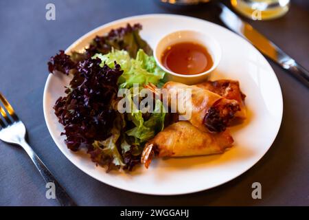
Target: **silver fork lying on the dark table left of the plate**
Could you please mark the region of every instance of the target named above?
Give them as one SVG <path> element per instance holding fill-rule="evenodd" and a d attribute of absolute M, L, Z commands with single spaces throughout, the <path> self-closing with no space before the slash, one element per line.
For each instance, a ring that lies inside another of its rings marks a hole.
<path fill-rule="evenodd" d="M 36 165 L 38 171 L 41 173 L 41 176 L 46 183 L 54 182 L 56 188 L 56 199 L 59 201 L 61 206 L 76 206 L 76 203 L 69 197 L 67 192 L 60 186 L 55 177 L 48 170 L 48 168 L 43 164 L 41 159 L 34 153 L 31 146 L 27 144 L 25 140 L 26 129 L 25 125 L 17 117 L 14 109 L 0 93 L 0 104 L 3 104 L 4 109 L 0 105 L 0 113 L 4 120 L 1 120 L 0 115 L 0 140 L 3 142 L 8 142 L 10 144 L 17 144 L 21 146 Z M 6 110 L 6 111 L 5 111 Z M 7 114 L 8 112 L 8 114 Z"/>

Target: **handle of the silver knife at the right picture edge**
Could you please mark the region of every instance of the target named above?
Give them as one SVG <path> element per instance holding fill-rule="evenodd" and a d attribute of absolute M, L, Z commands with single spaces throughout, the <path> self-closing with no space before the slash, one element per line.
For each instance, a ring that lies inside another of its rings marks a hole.
<path fill-rule="evenodd" d="M 309 72 L 307 69 L 296 63 L 293 59 L 281 63 L 281 66 L 309 88 Z"/>

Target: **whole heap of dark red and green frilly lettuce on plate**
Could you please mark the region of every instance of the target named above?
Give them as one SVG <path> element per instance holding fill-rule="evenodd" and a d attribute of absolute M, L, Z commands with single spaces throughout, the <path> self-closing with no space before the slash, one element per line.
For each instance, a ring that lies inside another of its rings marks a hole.
<path fill-rule="evenodd" d="M 93 162 L 107 166 L 106 171 L 132 170 L 140 164 L 144 144 L 164 126 L 166 112 L 160 100 L 154 101 L 152 113 L 144 113 L 128 94 L 131 111 L 117 110 L 119 89 L 132 90 L 135 83 L 140 88 L 148 83 L 159 87 L 164 82 L 165 72 L 139 36 L 140 30 L 138 23 L 111 30 L 96 36 L 83 53 L 60 50 L 47 63 L 51 73 L 73 75 L 66 96 L 54 105 L 67 147 L 72 151 L 86 148 Z"/>

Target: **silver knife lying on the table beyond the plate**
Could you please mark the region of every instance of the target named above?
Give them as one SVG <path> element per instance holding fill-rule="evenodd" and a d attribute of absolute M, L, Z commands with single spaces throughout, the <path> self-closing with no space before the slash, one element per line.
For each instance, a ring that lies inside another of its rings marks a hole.
<path fill-rule="evenodd" d="M 304 67 L 301 67 L 296 61 L 283 52 L 277 45 L 266 39 L 265 36 L 255 30 L 249 23 L 242 21 L 237 14 L 232 12 L 226 5 L 218 3 L 222 12 L 220 19 L 227 28 L 236 32 L 240 36 L 252 43 L 262 54 L 271 58 L 282 68 L 293 74 L 304 85 L 309 87 L 309 72 Z"/>

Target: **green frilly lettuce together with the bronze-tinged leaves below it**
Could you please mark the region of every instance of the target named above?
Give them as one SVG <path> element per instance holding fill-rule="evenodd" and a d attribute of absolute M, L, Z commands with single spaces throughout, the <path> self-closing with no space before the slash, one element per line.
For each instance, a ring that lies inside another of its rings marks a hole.
<path fill-rule="evenodd" d="M 144 144 L 163 130 L 166 114 L 161 100 L 156 100 L 154 111 L 145 117 L 144 113 L 137 108 L 138 103 L 135 103 L 131 95 L 134 94 L 132 93 L 133 84 L 138 83 L 139 89 L 148 83 L 159 85 L 164 81 L 165 72 L 157 66 L 155 58 L 148 56 L 143 50 L 138 50 L 135 59 L 130 58 L 125 50 L 111 50 L 108 54 L 95 54 L 92 58 L 100 58 L 101 67 L 107 65 L 115 68 L 115 63 L 120 65 L 123 74 L 117 81 L 119 89 L 126 88 L 131 91 L 125 97 L 131 110 L 130 113 L 123 115 L 126 121 L 122 118 L 122 124 L 125 125 L 117 127 L 120 121 L 115 122 L 111 137 L 93 143 L 95 153 L 92 159 L 99 164 L 106 164 L 106 160 L 111 160 L 110 164 L 131 170 L 135 164 L 139 163 Z M 126 126 L 126 122 L 130 125 Z"/>

